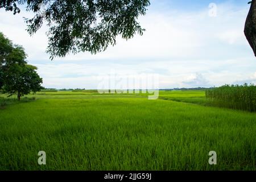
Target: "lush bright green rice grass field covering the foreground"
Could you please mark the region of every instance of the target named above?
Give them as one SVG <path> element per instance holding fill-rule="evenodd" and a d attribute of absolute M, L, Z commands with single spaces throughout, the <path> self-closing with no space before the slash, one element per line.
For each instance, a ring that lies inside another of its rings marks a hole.
<path fill-rule="evenodd" d="M 76 93 L 39 93 L 28 96 L 35 101 L 0 110 L 0 169 L 256 169 L 255 113 Z M 160 98 L 203 97 L 201 91 L 160 92 Z M 41 150 L 45 166 L 37 163 Z M 212 150 L 215 166 L 208 164 Z"/>

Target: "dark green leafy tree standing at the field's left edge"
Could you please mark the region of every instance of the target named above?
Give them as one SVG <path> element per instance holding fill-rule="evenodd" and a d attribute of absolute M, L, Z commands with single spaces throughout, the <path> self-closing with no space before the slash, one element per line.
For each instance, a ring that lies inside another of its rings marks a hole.
<path fill-rule="evenodd" d="M 36 67 L 28 65 L 22 46 L 14 45 L 0 32 L 0 90 L 17 93 L 18 100 L 24 94 L 42 89 L 43 80 L 36 73 Z"/>

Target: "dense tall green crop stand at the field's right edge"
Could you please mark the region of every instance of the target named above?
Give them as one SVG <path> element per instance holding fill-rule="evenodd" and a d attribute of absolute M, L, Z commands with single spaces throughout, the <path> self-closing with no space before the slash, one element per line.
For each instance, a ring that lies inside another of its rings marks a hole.
<path fill-rule="evenodd" d="M 255 85 L 225 85 L 206 90 L 205 96 L 212 105 L 256 111 Z"/>

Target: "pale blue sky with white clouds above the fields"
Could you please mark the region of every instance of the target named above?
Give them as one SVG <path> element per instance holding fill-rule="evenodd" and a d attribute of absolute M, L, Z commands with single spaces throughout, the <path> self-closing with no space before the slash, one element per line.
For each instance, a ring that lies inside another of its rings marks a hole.
<path fill-rule="evenodd" d="M 249 0 L 248 0 L 249 1 Z M 47 27 L 35 35 L 26 31 L 22 11 L 0 9 L 0 31 L 22 45 L 29 64 L 38 67 L 46 88 L 96 89 L 99 77 L 156 74 L 159 88 L 256 84 L 256 59 L 243 34 L 248 1 L 151 0 L 139 18 L 143 36 L 117 38 L 105 52 L 49 59 Z"/>

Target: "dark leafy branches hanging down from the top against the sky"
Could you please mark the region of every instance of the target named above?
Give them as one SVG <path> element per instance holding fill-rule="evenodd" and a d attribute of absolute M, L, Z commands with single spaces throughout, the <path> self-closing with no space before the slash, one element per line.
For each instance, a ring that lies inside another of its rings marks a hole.
<path fill-rule="evenodd" d="M 138 17 L 146 14 L 149 0 L 3 0 L 0 8 L 20 13 L 20 5 L 35 13 L 26 19 L 30 35 L 48 26 L 47 53 L 51 59 L 69 52 L 97 53 L 115 45 L 118 35 L 123 39 L 142 35 Z M 42 8 L 43 7 L 43 8 Z"/>

